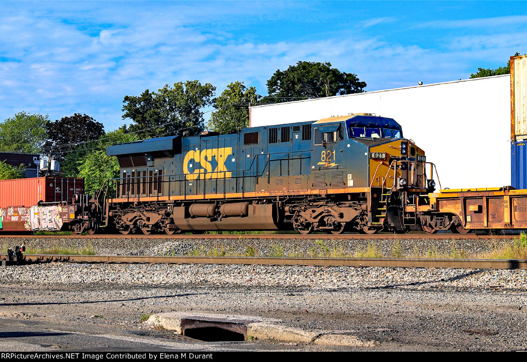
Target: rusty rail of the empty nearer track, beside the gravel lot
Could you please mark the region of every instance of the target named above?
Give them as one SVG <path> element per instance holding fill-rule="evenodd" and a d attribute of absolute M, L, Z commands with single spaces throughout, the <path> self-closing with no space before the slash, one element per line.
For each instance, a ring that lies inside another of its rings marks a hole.
<path fill-rule="evenodd" d="M 0 254 L 0 259 L 5 259 Z M 170 263 L 301 265 L 385 268 L 527 269 L 527 260 L 513 259 L 395 259 L 395 258 L 275 258 L 275 257 L 173 257 L 125 255 L 24 255 L 29 262 Z"/>

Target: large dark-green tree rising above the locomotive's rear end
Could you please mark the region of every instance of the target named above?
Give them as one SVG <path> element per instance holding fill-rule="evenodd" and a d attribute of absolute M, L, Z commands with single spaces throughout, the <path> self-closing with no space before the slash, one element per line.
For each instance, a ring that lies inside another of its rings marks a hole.
<path fill-rule="evenodd" d="M 134 124 L 131 132 L 139 138 L 182 134 L 199 134 L 203 130 L 202 109 L 212 104 L 216 87 L 199 81 L 165 84 L 158 92 L 148 89 L 140 96 L 125 96 L 123 119 L 129 118 Z"/>

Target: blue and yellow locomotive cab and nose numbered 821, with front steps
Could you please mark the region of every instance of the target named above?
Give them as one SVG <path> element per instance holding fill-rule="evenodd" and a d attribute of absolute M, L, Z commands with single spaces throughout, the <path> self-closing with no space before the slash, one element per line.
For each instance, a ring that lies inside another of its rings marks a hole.
<path fill-rule="evenodd" d="M 430 192 L 435 182 L 427 178 L 424 151 L 403 138 L 401 125 L 372 114 L 351 114 L 319 120 L 313 128 L 312 185 L 327 192 L 345 190 L 350 201 L 362 205 L 348 224 L 367 233 L 419 228 L 418 195 Z"/>

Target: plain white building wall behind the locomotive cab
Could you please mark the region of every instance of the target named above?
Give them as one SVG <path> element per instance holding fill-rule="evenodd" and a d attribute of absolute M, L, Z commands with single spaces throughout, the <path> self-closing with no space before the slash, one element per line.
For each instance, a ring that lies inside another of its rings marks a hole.
<path fill-rule="evenodd" d="M 251 107 L 251 126 L 350 113 L 395 119 L 437 166 L 442 188 L 511 183 L 510 76 Z"/>

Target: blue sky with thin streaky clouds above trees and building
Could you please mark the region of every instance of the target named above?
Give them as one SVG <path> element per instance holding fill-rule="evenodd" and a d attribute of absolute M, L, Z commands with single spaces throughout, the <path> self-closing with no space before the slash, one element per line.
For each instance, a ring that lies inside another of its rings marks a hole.
<path fill-rule="evenodd" d="M 467 79 L 527 53 L 527 2 L 0 2 L 0 121 L 86 113 L 107 131 L 125 95 L 199 80 L 219 95 L 296 62 L 366 91 Z"/>

